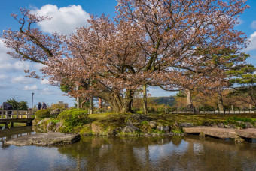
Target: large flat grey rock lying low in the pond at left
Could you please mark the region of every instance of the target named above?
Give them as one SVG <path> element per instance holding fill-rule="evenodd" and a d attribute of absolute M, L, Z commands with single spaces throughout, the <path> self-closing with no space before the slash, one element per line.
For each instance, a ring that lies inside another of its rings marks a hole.
<path fill-rule="evenodd" d="M 37 133 L 27 136 L 20 136 L 16 139 L 11 139 L 6 142 L 8 145 L 38 145 L 38 146 L 46 146 L 46 145 L 67 145 L 72 144 L 74 142 L 78 142 L 81 139 L 78 134 L 64 134 L 64 133 Z"/>

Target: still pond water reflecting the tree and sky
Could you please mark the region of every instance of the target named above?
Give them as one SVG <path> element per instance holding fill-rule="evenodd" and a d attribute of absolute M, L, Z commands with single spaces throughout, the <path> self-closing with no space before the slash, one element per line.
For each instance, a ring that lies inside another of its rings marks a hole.
<path fill-rule="evenodd" d="M 0 130 L 0 170 L 256 170 L 256 143 L 199 136 L 82 137 L 72 145 L 5 145 L 32 127 Z"/>

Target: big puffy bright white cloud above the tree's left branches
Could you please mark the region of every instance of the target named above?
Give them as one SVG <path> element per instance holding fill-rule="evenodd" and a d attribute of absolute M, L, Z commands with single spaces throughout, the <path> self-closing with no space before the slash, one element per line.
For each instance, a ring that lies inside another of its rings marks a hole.
<path fill-rule="evenodd" d="M 81 5 L 60 8 L 56 5 L 44 5 L 40 9 L 32 10 L 32 13 L 52 18 L 50 21 L 38 23 L 41 30 L 48 33 L 56 31 L 62 34 L 71 34 L 75 33 L 75 28 L 89 26 L 87 19 L 90 18 L 90 15 L 82 9 Z"/>

